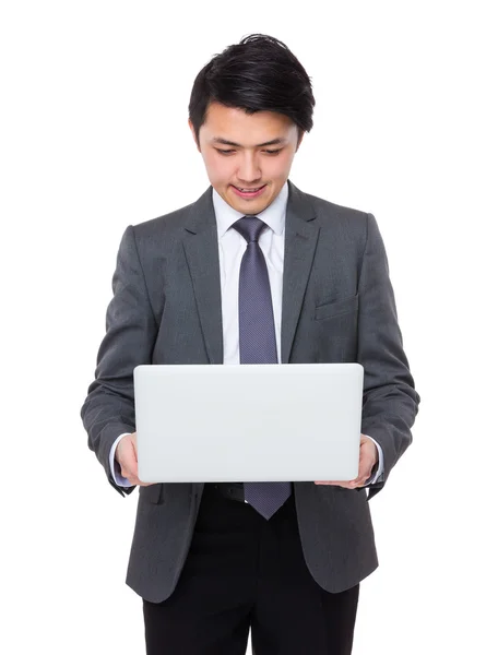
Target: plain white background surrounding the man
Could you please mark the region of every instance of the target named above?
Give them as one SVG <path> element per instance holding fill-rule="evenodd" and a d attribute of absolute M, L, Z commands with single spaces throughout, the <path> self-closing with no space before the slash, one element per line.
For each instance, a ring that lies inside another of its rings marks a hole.
<path fill-rule="evenodd" d="M 3 2 L 0 648 L 144 653 L 121 498 L 80 418 L 129 224 L 209 181 L 199 70 L 262 32 L 312 79 L 290 179 L 372 212 L 422 403 L 370 509 L 357 654 L 496 652 L 496 20 L 491 2 Z M 250 652 L 250 651 L 248 651 Z"/>

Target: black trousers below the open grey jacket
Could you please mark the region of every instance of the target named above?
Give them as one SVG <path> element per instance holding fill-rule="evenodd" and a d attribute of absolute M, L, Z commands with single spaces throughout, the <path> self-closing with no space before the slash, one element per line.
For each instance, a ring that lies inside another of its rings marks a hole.
<path fill-rule="evenodd" d="M 359 584 L 325 592 L 306 565 L 294 493 L 266 521 L 205 485 L 178 584 L 143 599 L 147 655 L 349 655 Z"/>

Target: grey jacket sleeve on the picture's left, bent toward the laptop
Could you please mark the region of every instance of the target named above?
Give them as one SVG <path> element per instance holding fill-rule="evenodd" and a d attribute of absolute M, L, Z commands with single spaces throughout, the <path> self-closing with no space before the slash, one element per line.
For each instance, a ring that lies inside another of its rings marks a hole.
<path fill-rule="evenodd" d="M 88 448 L 104 466 L 109 484 L 124 496 L 134 486 L 122 488 L 116 484 L 110 471 L 110 449 L 119 434 L 135 431 L 133 369 L 140 364 L 151 364 L 157 336 L 131 225 L 119 246 L 112 294 L 95 380 L 88 388 L 81 418 L 88 434 Z"/>

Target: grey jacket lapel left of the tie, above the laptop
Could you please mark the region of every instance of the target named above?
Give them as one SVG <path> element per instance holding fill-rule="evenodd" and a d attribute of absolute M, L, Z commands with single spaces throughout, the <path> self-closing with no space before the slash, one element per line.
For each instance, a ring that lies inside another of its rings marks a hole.
<path fill-rule="evenodd" d="M 210 364 L 223 364 L 222 291 L 212 187 L 193 203 L 185 226 L 185 255 Z"/>

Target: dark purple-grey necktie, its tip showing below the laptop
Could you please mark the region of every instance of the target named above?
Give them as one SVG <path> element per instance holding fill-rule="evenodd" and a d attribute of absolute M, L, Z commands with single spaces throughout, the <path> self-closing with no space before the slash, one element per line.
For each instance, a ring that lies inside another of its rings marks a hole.
<path fill-rule="evenodd" d="M 247 241 L 239 278 L 240 364 L 277 364 L 270 279 L 258 243 L 265 223 L 257 216 L 244 216 L 233 227 Z M 284 504 L 290 491 L 290 483 L 244 484 L 245 499 L 266 520 Z"/>

